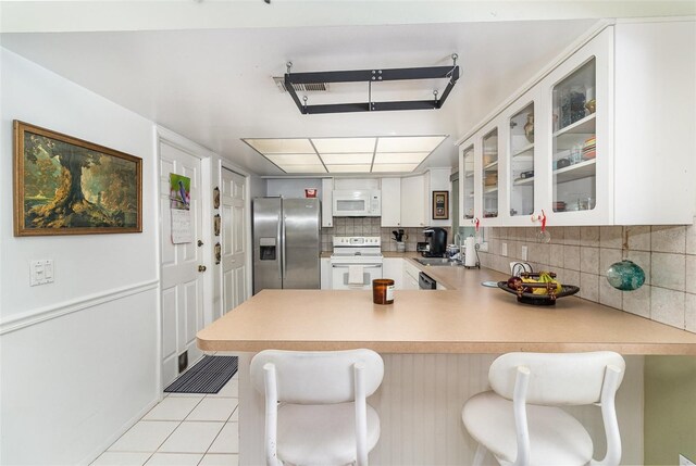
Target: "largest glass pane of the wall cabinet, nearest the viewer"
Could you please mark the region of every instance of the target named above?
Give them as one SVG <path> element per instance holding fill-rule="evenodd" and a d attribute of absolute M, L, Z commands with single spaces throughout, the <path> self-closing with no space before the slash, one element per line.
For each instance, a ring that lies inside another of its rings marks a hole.
<path fill-rule="evenodd" d="M 595 56 L 552 87 L 551 207 L 556 213 L 591 211 L 596 205 L 595 89 Z"/>

